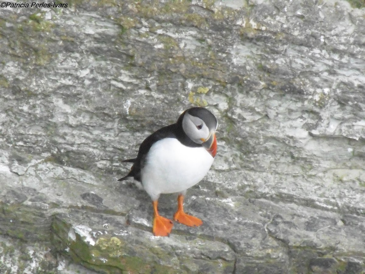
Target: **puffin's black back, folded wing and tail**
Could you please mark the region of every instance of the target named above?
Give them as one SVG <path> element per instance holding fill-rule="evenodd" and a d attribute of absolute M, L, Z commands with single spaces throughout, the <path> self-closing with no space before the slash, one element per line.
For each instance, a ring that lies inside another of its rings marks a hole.
<path fill-rule="evenodd" d="M 151 146 L 164 138 L 177 138 L 178 133 L 177 125 L 169 125 L 165 126 L 164 128 L 161 128 L 154 133 L 152 133 L 150 136 L 148 136 L 139 146 L 138 155 L 137 158 L 134 159 L 128 159 L 124 160 L 123 162 L 130 162 L 134 163 L 131 167 L 130 172 L 124 176 L 123 178 L 120 178 L 118 181 L 123 181 L 128 179 L 129 177 L 133 177 L 135 180 L 141 182 L 141 169 L 144 165 L 147 153 L 150 151 Z"/>

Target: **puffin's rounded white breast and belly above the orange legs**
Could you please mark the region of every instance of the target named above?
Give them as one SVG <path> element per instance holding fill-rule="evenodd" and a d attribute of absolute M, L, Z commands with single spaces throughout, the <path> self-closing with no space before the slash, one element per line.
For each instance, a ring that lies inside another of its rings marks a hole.
<path fill-rule="evenodd" d="M 203 179 L 213 160 L 205 148 L 191 148 L 175 138 L 162 139 L 147 154 L 142 185 L 153 201 L 161 193 L 183 192 Z"/>

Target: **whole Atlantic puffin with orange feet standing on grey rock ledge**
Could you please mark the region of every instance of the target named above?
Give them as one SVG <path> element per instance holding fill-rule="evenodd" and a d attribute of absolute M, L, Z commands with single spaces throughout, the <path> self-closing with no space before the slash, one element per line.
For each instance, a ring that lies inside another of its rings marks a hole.
<path fill-rule="evenodd" d="M 174 220 L 190 227 L 203 222 L 184 212 L 184 195 L 207 174 L 217 152 L 215 131 L 217 119 L 203 107 L 185 110 L 177 122 L 148 136 L 139 146 L 137 157 L 123 162 L 133 163 L 130 172 L 118 181 L 133 177 L 141 182 L 152 199 L 155 236 L 168 236 L 172 220 L 158 214 L 158 198 L 162 193 L 178 193 Z"/>

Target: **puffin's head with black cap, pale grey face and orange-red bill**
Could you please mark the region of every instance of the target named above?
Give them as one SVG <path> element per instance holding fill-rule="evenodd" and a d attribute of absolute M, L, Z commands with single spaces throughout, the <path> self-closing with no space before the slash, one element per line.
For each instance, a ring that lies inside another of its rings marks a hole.
<path fill-rule="evenodd" d="M 215 116 L 204 107 L 192 107 L 180 115 L 185 134 L 195 143 L 201 144 L 214 157 L 217 152 L 215 131 L 218 126 Z"/>

